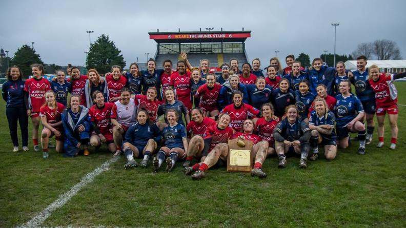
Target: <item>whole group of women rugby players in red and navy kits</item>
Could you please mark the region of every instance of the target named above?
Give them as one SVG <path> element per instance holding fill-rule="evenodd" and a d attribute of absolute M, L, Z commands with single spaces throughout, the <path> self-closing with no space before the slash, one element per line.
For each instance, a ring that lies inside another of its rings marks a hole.
<path fill-rule="evenodd" d="M 39 121 L 44 127 L 40 134 L 44 158 L 49 156 L 49 139 L 55 135 L 56 151 L 68 157 L 80 151 L 88 156 L 88 147 L 97 151 L 107 144 L 114 156 L 124 153 L 125 168 L 147 167 L 154 155 L 154 172 L 163 163 L 170 172 L 178 159 L 185 159 L 184 172 L 193 179 L 204 177 L 219 159 L 226 160 L 232 138 L 253 142 L 251 174 L 260 178 L 267 176 L 262 163 L 271 154 L 277 154 L 280 168 L 286 167 L 287 154 L 300 155 L 299 166 L 307 168 L 308 158 L 318 158 L 319 146 L 327 160 L 334 159 L 337 144 L 349 146 L 350 132 L 358 134 L 358 153 L 363 155 L 365 145 L 372 141 L 375 113 L 377 147 L 384 144 L 387 112 L 390 148 L 396 147 L 398 109 L 393 81 L 406 73 L 379 73 L 375 65 L 367 69 L 365 56 L 357 58 L 358 70 L 353 72 L 342 62 L 328 67 L 320 58 L 305 70 L 289 55 L 284 69 L 278 58 L 271 58 L 265 74 L 258 58 L 241 69 L 233 58 L 216 76 L 209 71 L 207 59 L 192 67 L 186 53 L 180 56 L 176 70 L 171 60 L 164 61 L 164 69 L 156 69 L 155 61 L 149 59 L 147 70 L 139 70 L 136 63 L 129 72 L 113 66 L 105 77 L 94 69 L 80 75 L 79 68 L 69 66 L 67 80 L 60 70 L 48 81 L 38 64 L 32 65 L 32 77 L 23 80 L 21 70 L 10 67 L 3 98 L 14 152 L 19 150 L 18 121 L 23 150 L 29 150 L 28 116 L 33 123 L 34 151 L 40 150 Z M 140 163 L 134 158 L 141 159 Z M 197 159 L 195 164 L 193 159 Z"/>

